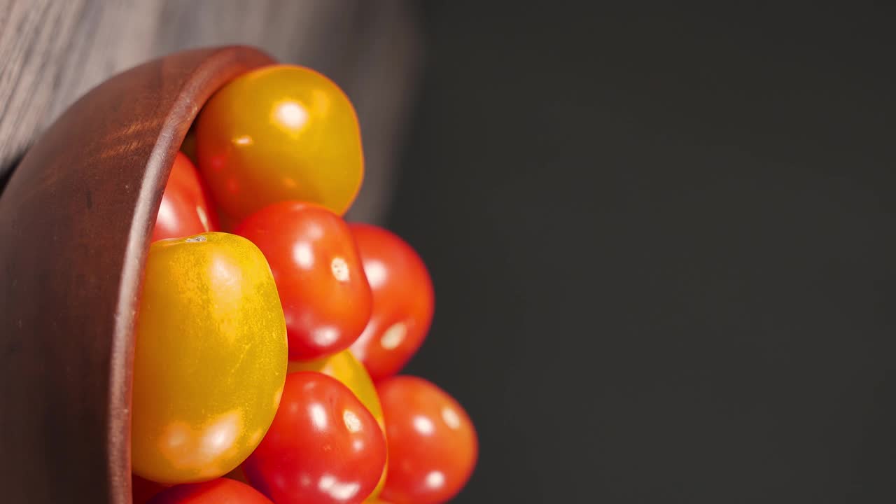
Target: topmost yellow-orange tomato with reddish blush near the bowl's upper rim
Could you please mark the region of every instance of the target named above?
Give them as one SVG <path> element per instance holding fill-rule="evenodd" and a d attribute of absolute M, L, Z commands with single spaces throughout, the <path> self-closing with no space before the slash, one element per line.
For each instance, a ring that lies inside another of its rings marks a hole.
<path fill-rule="evenodd" d="M 197 119 L 196 149 L 212 194 L 237 221 L 287 200 L 341 215 L 364 176 L 349 98 L 322 74 L 296 65 L 249 72 L 215 93 Z"/>

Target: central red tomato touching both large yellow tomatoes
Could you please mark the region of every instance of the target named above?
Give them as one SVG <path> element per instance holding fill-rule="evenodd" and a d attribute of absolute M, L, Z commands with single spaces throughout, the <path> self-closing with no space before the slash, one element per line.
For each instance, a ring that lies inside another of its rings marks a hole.
<path fill-rule="evenodd" d="M 349 347 L 370 318 L 371 293 L 349 226 L 317 204 L 282 202 L 253 213 L 234 231 L 271 265 L 289 359 L 308 360 Z"/>

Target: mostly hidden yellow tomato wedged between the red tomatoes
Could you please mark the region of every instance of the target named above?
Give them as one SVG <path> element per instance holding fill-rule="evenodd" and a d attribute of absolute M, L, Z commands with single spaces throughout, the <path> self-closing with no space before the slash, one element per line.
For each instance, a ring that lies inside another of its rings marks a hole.
<path fill-rule="evenodd" d="M 374 381 L 370 379 L 364 365 L 355 359 L 355 356 L 348 350 L 334 353 L 329 357 L 316 359 L 314 361 L 290 361 L 288 372 L 293 371 L 316 371 L 323 373 L 329 377 L 336 378 L 340 383 L 358 397 L 361 404 L 364 404 L 371 414 L 374 415 L 376 423 L 380 425 L 380 429 L 385 430 L 383 423 L 383 408 L 380 406 L 380 398 L 376 395 L 376 387 Z M 388 456 L 387 456 L 388 458 Z M 388 463 L 383 467 L 383 475 L 380 476 L 380 482 L 376 484 L 376 488 L 371 493 L 372 497 L 380 494 L 383 485 L 386 482 Z"/>

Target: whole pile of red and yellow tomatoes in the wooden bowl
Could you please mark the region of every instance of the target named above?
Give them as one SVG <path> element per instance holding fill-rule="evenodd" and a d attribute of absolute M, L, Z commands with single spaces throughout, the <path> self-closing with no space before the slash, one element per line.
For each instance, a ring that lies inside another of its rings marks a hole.
<path fill-rule="evenodd" d="M 426 266 L 345 222 L 358 119 L 322 74 L 273 65 L 205 105 L 162 196 L 136 317 L 136 504 L 431 504 L 476 464 L 470 417 L 399 376 Z"/>

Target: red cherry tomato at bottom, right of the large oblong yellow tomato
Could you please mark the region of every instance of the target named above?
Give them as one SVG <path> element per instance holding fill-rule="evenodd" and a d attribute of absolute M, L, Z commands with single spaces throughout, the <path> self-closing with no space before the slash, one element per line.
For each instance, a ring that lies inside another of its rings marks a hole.
<path fill-rule="evenodd" d="M 277 504 L 358 503 L 386 462 L 383 430 L 348 387 L 321 373 L 289 373 L 271 429 L 243 469 Z"/>

